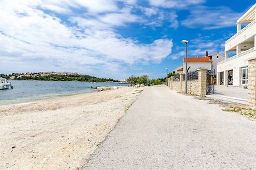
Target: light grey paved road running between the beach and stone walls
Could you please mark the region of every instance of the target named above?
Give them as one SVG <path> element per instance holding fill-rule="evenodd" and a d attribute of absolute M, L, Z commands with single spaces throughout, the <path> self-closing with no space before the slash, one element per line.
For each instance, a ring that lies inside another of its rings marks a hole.
<path fill-rule="evenodd" d="M 84 169 L 256 169 L 256 122 L 149 87 Z"/>

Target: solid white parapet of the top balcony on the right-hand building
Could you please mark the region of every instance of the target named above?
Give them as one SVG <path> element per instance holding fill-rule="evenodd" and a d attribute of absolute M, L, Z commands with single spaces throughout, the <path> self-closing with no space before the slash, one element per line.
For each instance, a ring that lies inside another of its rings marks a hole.
<path fill-rule="evenodd" d="M 256 22 L 253 20 L 250 24 L 246 25 L 241 31 L 228 39 L 225 44 L 225 51 L 230 51 L 235 46 L 243 43 L 246 39 L 251 38 L 255 35 Z"/>

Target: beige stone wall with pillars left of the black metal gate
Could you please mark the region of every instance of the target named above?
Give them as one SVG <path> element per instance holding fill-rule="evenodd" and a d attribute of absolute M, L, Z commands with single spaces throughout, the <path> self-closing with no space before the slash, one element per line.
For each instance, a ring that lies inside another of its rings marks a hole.
<path fill-rule="evenodd" d="M 198 96 L 206 95 L 206 82 L 207 74 L 205 69 L 198 69 L 198 80 L 188 80 L 188 94 L 195 94 Z M 184 93 L 185 81 L 183 80 L 183 74 L 180 74 L 180 81 L 173 81 L 172 76 L 170 80 L 170 89 L 180 93 Z"/>

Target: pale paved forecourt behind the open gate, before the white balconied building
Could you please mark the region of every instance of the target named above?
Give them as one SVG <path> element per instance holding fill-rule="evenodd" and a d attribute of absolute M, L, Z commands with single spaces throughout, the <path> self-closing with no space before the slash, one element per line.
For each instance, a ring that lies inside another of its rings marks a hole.
<path fill-rule="evenodd" d="M 247 100 L 248 89 L 243 87 L 233 87 L 233 86 L 215 86 L 215 94 L 208 95 L 214 99 L 221 99 L 224 101 L 231 101 L 235 103 L 248 104 Z"/>

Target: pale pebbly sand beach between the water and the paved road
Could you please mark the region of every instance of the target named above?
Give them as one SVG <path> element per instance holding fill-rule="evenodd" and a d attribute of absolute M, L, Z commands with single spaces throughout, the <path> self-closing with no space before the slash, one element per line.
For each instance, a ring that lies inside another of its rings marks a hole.
<path fill-rule="evenodd" d="M 0 169 L 77 169 L 143 88 L 0 106 Z"/>

